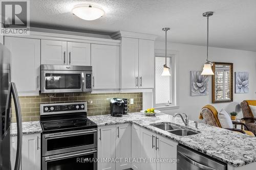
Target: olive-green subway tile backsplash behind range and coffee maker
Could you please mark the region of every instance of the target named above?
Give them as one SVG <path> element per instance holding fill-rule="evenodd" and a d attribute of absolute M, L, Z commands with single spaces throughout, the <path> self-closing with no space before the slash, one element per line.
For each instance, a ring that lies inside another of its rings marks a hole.
<path fill-rule="evenodd" d="M 142 93 L 56 93 L 39 94 L 38 96 L 19 96 L 22 109 L 23 122 L 36 121 L 40 119 L 40 104 L 65 103 L 65 102 L 87 102 L 88 116 L 110 114 L 111 98 L 134 99 L 134 105 L 129 104 L 130 112 L 142 110 Z M 129 102 L 130 103 L 130 102 Z M 16 122 L 15 108 L 12 102 L 12 122 Z"/>

